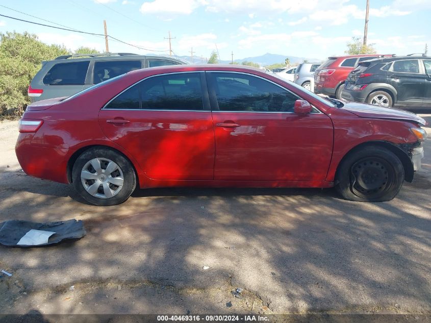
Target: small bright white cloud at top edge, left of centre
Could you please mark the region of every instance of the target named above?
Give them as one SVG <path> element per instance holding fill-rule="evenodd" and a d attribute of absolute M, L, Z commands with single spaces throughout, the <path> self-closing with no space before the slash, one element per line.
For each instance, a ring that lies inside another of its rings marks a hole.
<path fill-rule="evenodd" d="M 155 0 L 144 2 L 140 11 L 143 14 L 191 14 L 202 4 L 202 0 Z"/>

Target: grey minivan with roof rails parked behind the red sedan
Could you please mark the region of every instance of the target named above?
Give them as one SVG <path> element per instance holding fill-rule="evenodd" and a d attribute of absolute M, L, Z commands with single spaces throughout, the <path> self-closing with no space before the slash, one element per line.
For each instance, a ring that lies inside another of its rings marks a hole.
<path fill-rule="evenodd" d="M 135 69 L 177 64 L 188 63 L 172 57 L 130 53 L 63 55 L 42 62 L 28 95 L 30 102 L 70 96 Z"/>

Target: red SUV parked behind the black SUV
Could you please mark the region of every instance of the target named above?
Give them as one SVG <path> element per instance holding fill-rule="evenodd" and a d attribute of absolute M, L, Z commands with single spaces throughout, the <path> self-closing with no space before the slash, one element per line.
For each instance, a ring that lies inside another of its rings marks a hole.
<path fill-rule="evenodd" d="M 377 57 L 392 57 L 392 55 L 363 54 L 340 57 L 329 57 L 316 69 L 314 74 L 314 93 L 321 93 L 341 98 L 341 92 L 349 72 L 358 63 Z"/>

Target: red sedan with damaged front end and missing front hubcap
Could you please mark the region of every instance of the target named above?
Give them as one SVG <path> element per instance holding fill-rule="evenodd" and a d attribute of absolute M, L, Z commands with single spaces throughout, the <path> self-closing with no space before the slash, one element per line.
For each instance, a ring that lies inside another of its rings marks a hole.
<path fill-rule="evenodd" d="M 425 123 L 254 68 L 176 65 L 31 104 L 16 155 L 28 175 L 71 183 L 94 205 L 122 203 L 136 186 L 336 186 L 379 202 L 420 168 Z"/>

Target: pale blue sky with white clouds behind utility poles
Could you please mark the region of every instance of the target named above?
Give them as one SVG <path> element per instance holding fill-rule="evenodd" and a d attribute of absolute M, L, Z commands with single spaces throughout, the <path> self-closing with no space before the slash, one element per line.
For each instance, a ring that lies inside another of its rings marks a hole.
<path fill-rule="evenodd" d="M 363 36 L 366 0 L 3 0 L 1 5 L 64 26 L 108 34 L 166 52 L 109 41 L 110 52 L 169 54 L 168 31 L 177 55 L 234 60 L 265 53 L 325 59 L 342 55 L 352 36 Z M 431 0 L 370 0 L 369 43 L 378 53 L 422 53 L 431 46 Z M 117 12 L 115 12 L 117 11 Z M 0 7 L 0 13 L 36 18 Z M 120 14 L 119 14 L 120 13 Z M 122 14 L 122 15 L 121 15 Z M 103 37 L 36 26 L 0 17 L 0 32 L 28 31 L 46 43 L 104 51 Z"/>

